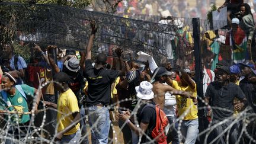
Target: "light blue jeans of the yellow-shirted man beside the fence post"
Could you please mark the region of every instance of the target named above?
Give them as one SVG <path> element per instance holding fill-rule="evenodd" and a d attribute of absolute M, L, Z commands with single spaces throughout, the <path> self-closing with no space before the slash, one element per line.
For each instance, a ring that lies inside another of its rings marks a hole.
<path fill-rule="evenodd" d="M 183 120 L 181 123 L 181 133 L 185 137 L 186 144 L 196 143 L 197 135 L 199 133 L 199 120 Z"/>

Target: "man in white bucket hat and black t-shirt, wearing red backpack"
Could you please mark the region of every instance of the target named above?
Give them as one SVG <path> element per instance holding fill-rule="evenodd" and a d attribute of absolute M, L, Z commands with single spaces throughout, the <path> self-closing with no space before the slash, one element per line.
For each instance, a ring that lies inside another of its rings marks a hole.
<path fill-rule="evenodd" d="M 143 135 L 141 143 L 155 142 L 151 133 L 156 126 L 156 110 L 153 107 L 145 107 L 147 104 L 155 105 L 153 102 L 154 93 L 152 88 L 153 85 L 148 81 L 140 82 L 140 85 L 135 88 L 137 98 L 141 99 L 138 101 L 140 103 L 139 105 L 142 105 L 137 110 L 138 113 L 136 116 L 139 127 L 136 127 L 135 124 L 129 120 L 131 116 L 129 111 L 125 111 L 123 114 L 119 113 L 119 119 L 126 121 L 125 123 L 127 123 L 130 129 L 132 129 L 137 135 Z"/>

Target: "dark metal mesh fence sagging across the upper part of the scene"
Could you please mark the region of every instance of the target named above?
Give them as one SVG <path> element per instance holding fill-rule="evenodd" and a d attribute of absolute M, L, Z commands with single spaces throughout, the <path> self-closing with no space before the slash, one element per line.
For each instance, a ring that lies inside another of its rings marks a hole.
<path fill-rule="evenodd" d="M 222 27 L 225 21 L 215 21 L 213 25 L 211 21 L 199 18 L 109 15 L 59 5 L 15 3 L 1 3 L 0 13 L 2 42 L 11 38 L 17 42 L 36 43 L 41 47 L 56 45 L 62 49 L 78 51 L 86 50 L 91 32 L 89 24 L 94 20 L 98 27 L 94 39 L 94 53 L 115 56 L 114 49 L 119 47 L 124 50 L 127 60 L 136 60 L 136 53 L 142 51 L 153 56 L 159 66 L 171 62 L 181 69 L 196 71 L 194 79 L 200 98 L 203 98 L 201 59 L 205 63 L 210 57 L 213 65 L 220 60 L 226 60 L 230 64 L 234 62 L 233 44 L 226 40 L 226 36 L 234 35 Z M 239 46 L 247 42 L 246 33 L 239 32 L 238 35 L 243 36 L 240 37 L 242 42 Z M 217 45 L 212 46 L 213 42 Z M 246 46 L 242 50 L 245 53 L 244 59 L 240 59 L 241 62 L 247 59 Z M 211 53 L 207 53 L 208 51 Z M 201 120 L 204 117 L 203 108 L 204 104 L 200 101 Z M 200 132 L 203 132 L 203 127 L 200 127 Z"/>

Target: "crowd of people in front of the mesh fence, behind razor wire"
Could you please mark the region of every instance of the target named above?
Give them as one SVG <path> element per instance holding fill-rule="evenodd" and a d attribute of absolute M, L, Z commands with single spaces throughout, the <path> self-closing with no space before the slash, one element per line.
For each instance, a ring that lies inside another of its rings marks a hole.
<path fill-rule="evenodd" d="M 238 23 L 237 18 L 232 19 L 232 27 L 238 27 Z M 141 69 L 135 62 L 124 62 L 123 50 L 119 48 L 115 50 L 117 59 L 113 59 L 112 65 L 106 63 L 108 57 L 102 53 L 93 61 L 95 33 L 97 27 L 92 21 L 86 52 L 80 52 L 79 59 L 74 50 L 65 51 L 56 46 L 42 50 L 34 44 L 35 56 L 27 65 L 23 57 L 12 54 L 12 43 L 1 45 L 4 52 L 0 71 L 1 113 L 3 120 L 11 121 L 10 126 L 1 123 L 2 129 L 8 130 L 5 143 L 20 140 L 27 134 L 30 114 L 38 113 L 34 124 L 40 126 L 43 115 L 40 116 L 39 109 L 43 106 L 47 107 L 44 136 L 57 143 L 89 143 L 86 115 L 92 143 L 111 142 L 113 116 L 119 121 L 124 143 L 196 143 L 199 140 L 197 87 L 189 63 L 176 60 L 155 69 L 146 63 Z M 214 33 L 209 31 L 205 35 L 211 41 Z M 205 122 L 209 123 L 204 128 L 216 126 L 207 140 L 249 143 L 251 139 L 242 129 L 246 127 L 248 135 L 256 138 L 253 115 L 237 123 L 233 119 L 242 111 L 256 112 L 255 63 L 232 59 L 231 66 L 219 56 L 217 62 L 211 60 L 209 49 L 204 53 L 203 88 L 208 107 Z M 163 131 L 155 136 L 152 133 L 158 120 L 163 119 L 159 113 L 167 117 L 169 127 L 166 126 L 167 133 Z M 223 133 L 226 129 L 230 132 Z"/>

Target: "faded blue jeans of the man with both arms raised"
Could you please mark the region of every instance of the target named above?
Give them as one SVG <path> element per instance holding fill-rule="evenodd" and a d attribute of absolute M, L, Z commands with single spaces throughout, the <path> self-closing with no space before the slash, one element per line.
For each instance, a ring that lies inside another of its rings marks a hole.
<path fill-rule="evenodd" d="M 110 130 L 110 114 L 108 108 L 88 107 L 89 125 L 91 127 L 92 143 L 107 143 Z"/>

